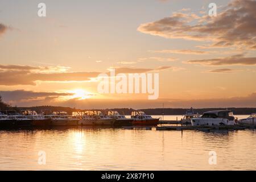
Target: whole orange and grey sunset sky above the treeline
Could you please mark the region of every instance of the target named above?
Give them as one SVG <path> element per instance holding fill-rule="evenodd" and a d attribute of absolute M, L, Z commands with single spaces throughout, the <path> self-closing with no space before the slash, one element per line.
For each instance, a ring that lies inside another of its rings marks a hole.
<path fill-rule="evenodd" d="M 81 109 L 256 107 L 255 10 L 252 0 L 3 0 L 0 95 Z M 159 73 L 158 100 L 98 93 L 110 68 Z"/>

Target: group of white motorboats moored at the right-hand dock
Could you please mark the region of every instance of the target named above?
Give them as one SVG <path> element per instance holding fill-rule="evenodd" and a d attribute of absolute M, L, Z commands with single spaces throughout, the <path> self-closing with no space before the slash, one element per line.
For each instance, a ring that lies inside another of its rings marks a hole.
<path fill-rule="evenodd" d="M 191 108 L 181 119 L 181 123 L 192 126 L 256 125 L 256 113 L 251 114 L 248 118 L 238 120 L 231 110 L 207 111 L 203 115 L 199 115 L 195 114 Z"/>

